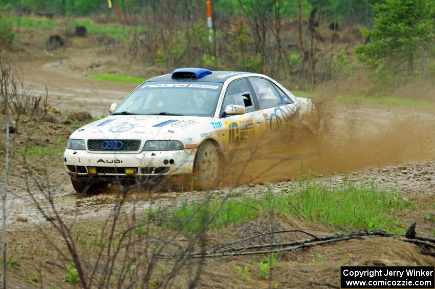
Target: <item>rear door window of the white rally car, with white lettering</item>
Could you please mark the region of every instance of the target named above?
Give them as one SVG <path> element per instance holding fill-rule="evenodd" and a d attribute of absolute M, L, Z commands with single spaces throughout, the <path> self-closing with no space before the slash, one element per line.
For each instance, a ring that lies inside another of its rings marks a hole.
<path fill-rule="evenodd" d="M 282 104 L 281 97 L 269 80 L 264 78 L 249 78 L 254 88 L 260 108 L 275 107 Z"/>

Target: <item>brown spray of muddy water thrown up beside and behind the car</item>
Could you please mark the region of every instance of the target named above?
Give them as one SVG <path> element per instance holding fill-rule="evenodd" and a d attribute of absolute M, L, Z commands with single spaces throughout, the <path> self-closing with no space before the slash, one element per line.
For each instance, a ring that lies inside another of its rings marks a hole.
<path fill-rule="evenodd" d="M 435 157 L 435 115 L 430 108 L 323 100 L 317 103 L 317 114 L 320 129 L 315 133 L 307 127 L 312 117 L 296 117 L 231 152 L 224 184 L 273 182 L 309 172 L 345 173 Z"/>

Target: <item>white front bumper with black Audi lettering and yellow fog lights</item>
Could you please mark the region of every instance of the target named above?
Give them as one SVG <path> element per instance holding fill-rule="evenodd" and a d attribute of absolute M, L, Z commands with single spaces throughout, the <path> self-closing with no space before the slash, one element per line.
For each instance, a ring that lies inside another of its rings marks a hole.
<path fill-rule="evenodd" d="M 166 174 L 190 174 L 197 149 L 94 153 L 66 149 L 63 162 L 73 179 L 113 179 Z"/>

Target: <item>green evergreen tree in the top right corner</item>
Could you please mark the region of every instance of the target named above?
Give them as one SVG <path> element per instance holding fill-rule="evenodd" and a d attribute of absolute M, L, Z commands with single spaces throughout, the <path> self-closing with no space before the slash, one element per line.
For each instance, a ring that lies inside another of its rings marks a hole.
<path fill-rule="evenodd" d="M 374 5 L 371 43 L 356 49 L 359 61 L 372 69 L 399 73 L 414 70 L 435 41 L 435 6 L 432 0 L 385 0 Z"/>

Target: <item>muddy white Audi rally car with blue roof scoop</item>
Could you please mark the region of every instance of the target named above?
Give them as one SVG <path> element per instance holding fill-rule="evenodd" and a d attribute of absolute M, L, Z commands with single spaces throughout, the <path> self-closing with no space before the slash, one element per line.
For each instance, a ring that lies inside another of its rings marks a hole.
<path fill-rule="evenodd" d="M 262 74 L 183 68 L 148 79 L 110 115 L 74 131 L 63 161 L 77 192 L 122 178 L 220 181 L 223 154 L 314 109 Z"/>

